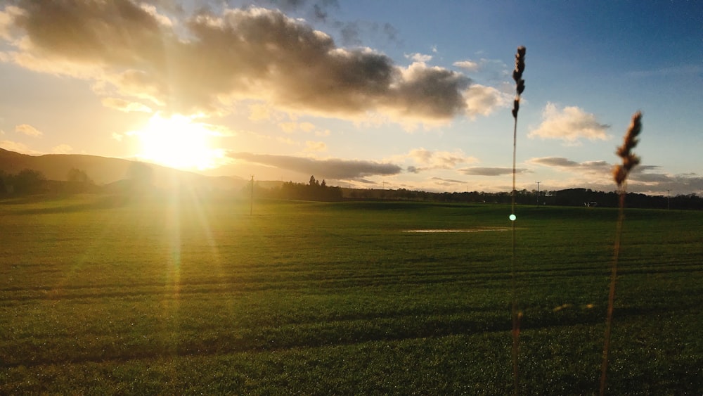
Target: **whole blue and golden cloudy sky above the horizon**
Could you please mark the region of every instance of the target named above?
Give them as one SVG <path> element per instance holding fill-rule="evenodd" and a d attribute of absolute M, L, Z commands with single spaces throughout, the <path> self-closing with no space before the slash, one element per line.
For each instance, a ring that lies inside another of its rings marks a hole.
<path fill-rule="evenodd" d="M 701 1 L 1 0 L 0 148 L 510 191 L 518 46 L 517 189 L 703 193 Z"/>

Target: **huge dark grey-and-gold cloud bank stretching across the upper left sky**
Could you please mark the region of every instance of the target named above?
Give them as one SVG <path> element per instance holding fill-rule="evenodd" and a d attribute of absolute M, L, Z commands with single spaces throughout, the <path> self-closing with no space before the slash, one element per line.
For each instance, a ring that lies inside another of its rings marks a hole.
<path fill-rule="evenodd" d="M 372 49 L 340 48 L 278 10 L 202 10 L 172 20 L 127 0 L 16 4 L 1 15 L 15 49 L 6 56 L 32 70 L 91 79 L 110 96 L 107 106 L 124 108 L 115 101 L 121 97 L 165 112 L 221 115 L 246 99 L 349 120 L 382 113 L 399 123 L 437 123 L 465 114 L 472 94 L 486 103 L 486 92 L 468 89 L 470 79 L 458 72 L 422 62 L 403 68 Z"/>

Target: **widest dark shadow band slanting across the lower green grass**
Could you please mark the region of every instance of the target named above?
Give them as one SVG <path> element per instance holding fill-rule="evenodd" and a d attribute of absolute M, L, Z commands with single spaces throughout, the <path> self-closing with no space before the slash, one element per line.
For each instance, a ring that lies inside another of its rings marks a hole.
<path fill-rule="evenodd" d="M 694 309 L 695 305 L 679 306 L 675 311 Z M 619 309 L 620 321 L 671 314 L 670 307 Z M 205 328 L 171 328 L 134 334 L 125 327 L 117 333 L 102 336 L 91 333 L 78 338 L 95 337 L 91 348 L 76 350 L 75 335 L 53 337 L 52 347 L 35 350 L 41 338 L 22 338 L 6 345 L 0 354 L 2 366 L 41 366 L 44 364 L 125 361 L 172 356 L 210 356 L 239 352 L 276 352 L 294 348 L 355 345 L 376 341 L 394 342 L 423 338 L 508 333 L 510 321 L 505 320 L 508 307 L 445 307 L 436 312 L 357 312 L 338 317 L 318 317 L 307 321 L 283 321 L 278 324 L 234 323 L 229 331 L 212 332 Z M 574 309 L 572 312 L 541 310 L 523 318 L 523 331 L 570 326 L 601 326 L 602 309 Z M 158 326 L 157 326 L 158 327 Z M 174 338 L 175 336 L 175 338 Z M 142 340 L 142 338 L 144 340 Z M 115 340 L 121 340 L 115 343 Z M 131 346 L 127 346 L 131 345 Z M 53 350 L 54 352 L 51 352 Z M 32 353 L 27 353 L 27 352 Z M 61 351 L 60 353 L 58 353 Z"/>

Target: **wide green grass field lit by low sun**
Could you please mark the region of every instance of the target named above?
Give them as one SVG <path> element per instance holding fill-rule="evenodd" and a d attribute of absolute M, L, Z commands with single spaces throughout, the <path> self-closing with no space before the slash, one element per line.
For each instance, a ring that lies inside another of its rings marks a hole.
<path fill-rule="evenodd" d="M 0 394 L 508 394 L 509 214 L 1 200 Z M 521 391 L 597 393 L 617 210 L 517 216 Z M 703 212 L 626 212 L 610 394 L 703 390 L 702 261 Z"/>

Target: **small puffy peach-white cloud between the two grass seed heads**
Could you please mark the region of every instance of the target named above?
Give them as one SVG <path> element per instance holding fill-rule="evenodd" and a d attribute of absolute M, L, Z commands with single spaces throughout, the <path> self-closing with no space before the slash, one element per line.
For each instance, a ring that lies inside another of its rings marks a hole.
<path fill-rule="evenodd" d="M 579 139 L 610 139 L 607 129 L 610 129 L 610 125 L 601 124 L 595 115 L 586 113 L 581 108 L 567 106 L 560 110 L 553 103 L 547 103 L 542 112 L 542 123 L 527 136 L 575 143 Z"/>

